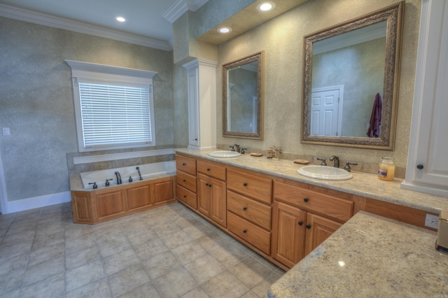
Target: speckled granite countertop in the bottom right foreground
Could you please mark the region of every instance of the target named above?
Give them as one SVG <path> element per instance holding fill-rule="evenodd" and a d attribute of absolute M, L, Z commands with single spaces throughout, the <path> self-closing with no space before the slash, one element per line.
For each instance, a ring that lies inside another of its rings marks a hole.
<path fill-rule="evenodd" d="M 359 211 L 269 288 L 269 297 L 447 297 L 437 232 Z"/>

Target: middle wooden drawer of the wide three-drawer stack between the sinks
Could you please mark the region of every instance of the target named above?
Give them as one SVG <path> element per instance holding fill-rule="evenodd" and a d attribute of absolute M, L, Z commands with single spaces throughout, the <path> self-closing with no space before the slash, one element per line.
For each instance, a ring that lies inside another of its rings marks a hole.
<path fill-rule="evenodd" d="M 271 207 L 228 190 L 227 209 L 263 229 L 271 230 Z"/>

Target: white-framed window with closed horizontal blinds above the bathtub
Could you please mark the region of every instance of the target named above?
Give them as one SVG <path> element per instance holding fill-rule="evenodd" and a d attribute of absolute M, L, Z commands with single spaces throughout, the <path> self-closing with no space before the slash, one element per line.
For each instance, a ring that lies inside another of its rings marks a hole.
<path fill-rule="evenodd" d="M 80 152 L 155 146 L 152 71 L 66 60 Z"/>

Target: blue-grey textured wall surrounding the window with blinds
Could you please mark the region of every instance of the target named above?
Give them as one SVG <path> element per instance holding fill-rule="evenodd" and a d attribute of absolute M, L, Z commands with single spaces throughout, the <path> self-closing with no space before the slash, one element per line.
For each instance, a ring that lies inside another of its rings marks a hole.
<path fill-rule="evenodd" d="M 0 17 L 0 154 L 8 201 L 69 191 L 77 152 L 70 67 L 64 59 L 158 72 L 158 147 L 172 147 L 172 53 Z"/>

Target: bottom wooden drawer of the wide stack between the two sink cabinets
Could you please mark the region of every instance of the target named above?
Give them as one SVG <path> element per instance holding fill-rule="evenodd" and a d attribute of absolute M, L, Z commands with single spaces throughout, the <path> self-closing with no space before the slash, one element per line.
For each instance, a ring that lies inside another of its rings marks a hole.
<path fill-rule="evenodd" d="M 248 243 L 269 255 L 271 250 L 271 233 L 265 229 L 254 225 L 248 220 L 244 220 L 232 212 L 227 212 L 227 228 L 233 234 L 244 239 Z"/>

